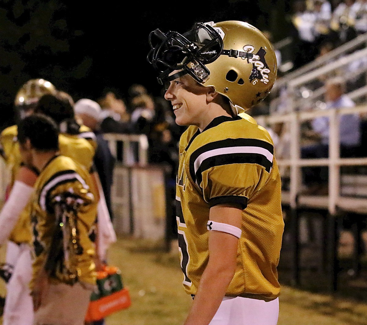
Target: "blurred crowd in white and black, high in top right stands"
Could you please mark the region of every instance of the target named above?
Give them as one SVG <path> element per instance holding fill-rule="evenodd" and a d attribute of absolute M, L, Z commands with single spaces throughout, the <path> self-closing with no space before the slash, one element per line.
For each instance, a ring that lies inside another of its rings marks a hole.
<path fill-rule="evenodd" d="M 367 32 L 367 1 L 297 0 L 291 22 L 297 69 Z"/>

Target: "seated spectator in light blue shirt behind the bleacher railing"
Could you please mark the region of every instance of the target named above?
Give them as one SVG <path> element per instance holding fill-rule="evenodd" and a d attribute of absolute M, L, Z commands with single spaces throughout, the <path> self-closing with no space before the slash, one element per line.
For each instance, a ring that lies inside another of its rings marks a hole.
<path fill-rule="evenodd" d="M 326 82 L 325 109 L 354 107 L 355 103 L 345 95 L 342 78 L 334 78 Z M 340 155 L 354 156 L 360 145 L 360 117 L 357 114 L 341 115 L 339 119 Z M 309 139 L 316 144 L 301 148 L 302 158 L 327 158 L 329 151 L 329 119 L 317 117 L 311 122 L 312 130 L 306 132 Z M 304 167 L 304 182 L 309 185 L 308 194 L 326 194 L 328 189 L 327 167 Z"/>

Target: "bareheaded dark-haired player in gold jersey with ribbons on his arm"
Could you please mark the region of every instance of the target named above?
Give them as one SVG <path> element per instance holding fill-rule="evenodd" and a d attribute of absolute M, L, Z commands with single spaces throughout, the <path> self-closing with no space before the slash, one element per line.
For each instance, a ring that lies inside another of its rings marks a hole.
<path fill-rule="evenodd" d="M 95 285 L 89 232 L 97 201 L 90 173 L 58 155 L 58 125 L 33 114 L 19 123 L 23 162 L 39 171 L 31 199 L 34 324 L 83 325 Z"/>

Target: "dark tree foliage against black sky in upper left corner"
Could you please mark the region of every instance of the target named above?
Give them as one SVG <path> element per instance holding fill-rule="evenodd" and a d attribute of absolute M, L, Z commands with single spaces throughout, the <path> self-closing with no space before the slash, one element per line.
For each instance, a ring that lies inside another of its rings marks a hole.
<path fill-rule="evenodd" d="M 83 32 L 70 28 L 68 17 L 68 7 L 58 0 L 1 1 L 0 105 L 8 116 L 0 124 L 12 122 L 6 120 L 15 94 L 29 79 L 44 78 L 64 89 L 87 73 L 92 59 L 70 52 Z"/>

